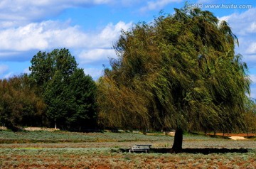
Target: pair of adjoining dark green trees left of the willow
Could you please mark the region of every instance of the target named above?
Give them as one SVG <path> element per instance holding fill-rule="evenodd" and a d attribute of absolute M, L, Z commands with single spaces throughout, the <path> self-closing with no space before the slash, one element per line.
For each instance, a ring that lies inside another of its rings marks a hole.
<path fill-rule="evenodd" d="M 31 60 L 31 78 L 41 88 L 47 116 L 55 127 L 85 129 L 95 118 L 95 82 L 78 68 L 68 49 L 38 52 Z"/>

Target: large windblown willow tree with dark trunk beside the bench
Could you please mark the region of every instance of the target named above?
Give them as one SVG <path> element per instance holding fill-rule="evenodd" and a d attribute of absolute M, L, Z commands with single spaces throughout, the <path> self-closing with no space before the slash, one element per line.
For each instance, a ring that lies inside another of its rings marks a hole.
<path fill-rule="evenodd" d="M 122 32 L 99 80 L 100 121 L 124 129 L 243 129 L 250 92 L 247 66 L 235 55 L 228 23 L 200 9 L 175 9 Z"/>

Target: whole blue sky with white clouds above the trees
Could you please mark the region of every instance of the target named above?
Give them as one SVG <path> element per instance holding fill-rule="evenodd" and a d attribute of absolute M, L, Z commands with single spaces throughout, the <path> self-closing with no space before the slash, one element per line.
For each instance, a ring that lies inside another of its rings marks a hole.
<path fill-rule="evenodd" d="M 212 11 L 228 21 L 250 70 L 251 97 L 256 98 L 256 1 L 194 0 L 188 5 Z M 113 43 L 120 31 L 140 21 L 151 22 L 159 11 L 174 13 L 181 0 L 1 0 L 0 79 L 28 72 L 39 50 L 68 48 L 79 67 L 97 80 L 102 65 L 116 58 Z"/>

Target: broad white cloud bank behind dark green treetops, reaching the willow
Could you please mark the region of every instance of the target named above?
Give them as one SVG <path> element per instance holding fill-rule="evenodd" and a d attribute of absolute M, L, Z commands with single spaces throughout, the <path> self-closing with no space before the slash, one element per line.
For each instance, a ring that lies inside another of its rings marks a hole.
<path fill-rule="evenodd" d="M 115 57 L 111 48 L 119 38 L 121 30 L 127 31 L 131 27 L 132 23 L 119 21 L 116 24 L 109 23 L 101 30 L 86 32 L 80 26 L 70 26 L 69 21 L 43 21 L 17 28 L 0 29 L 0 58 L 6 61 L 28 61 L 38 50 L 69 48 L 78 57 L 79 64 L 85 67 L 88 64 L 107 64 L 108 58 Z M 12 74 L 6 77 L 10 75 Z M 95 77 L 94 74 L 92 76 Z"/>

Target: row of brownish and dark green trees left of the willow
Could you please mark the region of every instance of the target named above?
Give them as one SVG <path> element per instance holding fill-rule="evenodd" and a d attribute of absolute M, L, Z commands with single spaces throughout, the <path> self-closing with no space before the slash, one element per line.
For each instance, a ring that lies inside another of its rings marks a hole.
<path fill-rule="evenodd" d="M 38 52 L 30 75 L 0 81 L 1 124 L 55 126 L 81 131 L 96 126 L 96 84 L 69 50 Z"/>

